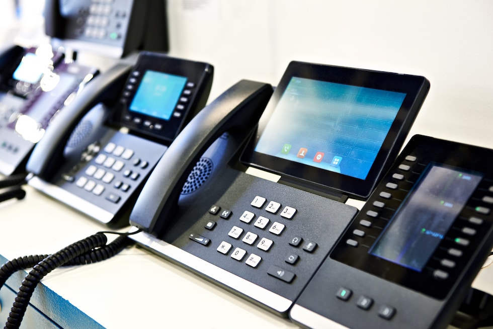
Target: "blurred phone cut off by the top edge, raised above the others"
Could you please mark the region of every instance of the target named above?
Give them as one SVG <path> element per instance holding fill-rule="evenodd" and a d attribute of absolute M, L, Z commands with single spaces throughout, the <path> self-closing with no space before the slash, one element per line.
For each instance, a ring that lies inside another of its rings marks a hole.
<path fill-rule="evenodd" d="M 166 2 L 47 0 L 45 33 L 53 44 L 114 58 L 134 50 L 166 52 Z"/>

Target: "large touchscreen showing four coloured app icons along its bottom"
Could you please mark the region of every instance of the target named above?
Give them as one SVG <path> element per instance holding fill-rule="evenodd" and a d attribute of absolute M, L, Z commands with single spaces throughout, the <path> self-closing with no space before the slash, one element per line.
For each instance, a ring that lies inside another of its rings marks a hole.
<path fill-rule="evenodd" d="M 405 96 L 293 76 L 255 151 L 364 180 Z"/>

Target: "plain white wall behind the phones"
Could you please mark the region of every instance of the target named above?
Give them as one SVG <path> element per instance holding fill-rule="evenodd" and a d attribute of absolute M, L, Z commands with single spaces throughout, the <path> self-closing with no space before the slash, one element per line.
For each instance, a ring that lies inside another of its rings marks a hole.
<path fill-rule="evenodd" d="M 0 36 L 41 38 L 40 3 L 21 0 Z M 411 134 L 493 148 L 493 0 L 168 0 L 168 18 L 170 55 L 214 65 L 210 100 L 242 78 L 276 85 L 291 60 L 425 75 Z"/>

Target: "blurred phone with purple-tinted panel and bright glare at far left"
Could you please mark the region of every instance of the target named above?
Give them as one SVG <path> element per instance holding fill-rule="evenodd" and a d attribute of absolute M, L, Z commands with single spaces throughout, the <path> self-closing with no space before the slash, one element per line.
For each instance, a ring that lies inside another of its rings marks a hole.
<path fill-rule="evenodd" d="M 98 73 L 95 68 L 65 62 L 49 45 L 13 46 L 1 55 L 0 173 L 24 171 L 34 145 L 52 117 Z"/>

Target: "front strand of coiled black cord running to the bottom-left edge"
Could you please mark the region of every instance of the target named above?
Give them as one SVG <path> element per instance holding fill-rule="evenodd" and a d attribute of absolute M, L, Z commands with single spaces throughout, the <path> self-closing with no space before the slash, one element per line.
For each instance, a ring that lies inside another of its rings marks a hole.
<path fill-rule="evenodd" d="M 38 283 L 55 268 L 62 266 L 72 259 L 84 255 L 92 249 L 104 246 L 108 241 L 105 234 L 97 233 L 85 239 L 70 244 L 59 252 L 48 256 L 36 264 L 34 268 L 22 281 L 17 297 L 12 305 L 11 312 L 7 318 L 4 329 L 19 328 L 22 318 L 26 313 L 27 306 Z"/>

